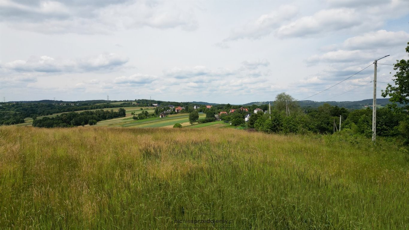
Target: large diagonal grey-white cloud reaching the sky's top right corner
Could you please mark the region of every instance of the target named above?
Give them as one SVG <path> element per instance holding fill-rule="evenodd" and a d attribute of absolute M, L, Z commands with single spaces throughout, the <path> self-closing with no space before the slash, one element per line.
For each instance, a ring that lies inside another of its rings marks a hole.
<path fill-rule="evenodd" d="M 231 40 L 254 40 L 270 34 L 278 38 L 294 38 L 338 31 L 371 31 L 380 28 L 387 19 L 407 14 L 408 8 L 407 1 L 329 1 L 328 4 L 330 8 L 301 18 L 296 18 L 298 11 L 295 7 L 280 7 L 234 29 L 228 38 L 216 45 L 227 48 L 227 42 Z"/>

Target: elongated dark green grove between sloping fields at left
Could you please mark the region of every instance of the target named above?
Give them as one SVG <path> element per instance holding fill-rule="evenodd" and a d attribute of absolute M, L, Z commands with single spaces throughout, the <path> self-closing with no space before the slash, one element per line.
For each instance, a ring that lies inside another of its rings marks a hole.
<path fill-rule="evenodd" d="M 84 111 L 81 113 L 70 112 L 66 114 L 57 115 L 55 117 L 44 117 L 41 119 L 34 119 L 34 127 L 73 127 L 79 125 L 95 125 L 98 121 L 124 117 L 126 115 L 125 109 L 120 108 L 119 111 L 113 109 L 104 111 Z"/>

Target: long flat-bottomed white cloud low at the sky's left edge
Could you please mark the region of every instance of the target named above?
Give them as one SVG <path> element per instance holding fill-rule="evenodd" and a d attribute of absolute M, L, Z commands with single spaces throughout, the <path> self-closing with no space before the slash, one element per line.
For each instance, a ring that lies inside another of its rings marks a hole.
<path fill-rule="evenodd" d="M 5 63 L 1 68 L 19 72 L 88 72 L 112 70 L 127 62 L 127 57 L 112 53 L 78 60 L 56 60 L 49 56 L 31 56 L 28 60 Z"/>

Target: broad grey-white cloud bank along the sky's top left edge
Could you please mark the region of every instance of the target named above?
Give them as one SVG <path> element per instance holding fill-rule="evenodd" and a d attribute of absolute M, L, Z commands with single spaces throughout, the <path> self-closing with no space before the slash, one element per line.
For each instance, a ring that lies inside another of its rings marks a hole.
<path fill-rule="evenodd" d="M 151 27 L 197 28 L 193 9 L 175 2 L 142 1 L 0 1 L 3 23 L 39 33 L 112 33 Z"/>

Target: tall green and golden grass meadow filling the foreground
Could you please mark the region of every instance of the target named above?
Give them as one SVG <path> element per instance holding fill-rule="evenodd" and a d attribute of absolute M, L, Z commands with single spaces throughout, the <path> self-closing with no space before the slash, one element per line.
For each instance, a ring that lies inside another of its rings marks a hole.
<path fill-rule="evenodd" d="M 0 226 L 408 229 L 408 153 L 377 141 L 0 126 Z"/>

